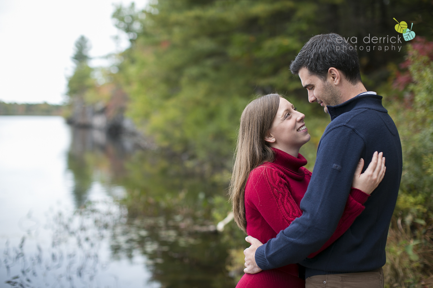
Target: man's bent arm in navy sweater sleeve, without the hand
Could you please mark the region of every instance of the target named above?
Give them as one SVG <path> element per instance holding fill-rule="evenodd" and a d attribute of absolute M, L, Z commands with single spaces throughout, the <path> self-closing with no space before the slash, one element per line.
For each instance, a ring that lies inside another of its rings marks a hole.
<path fill-rule="evenodd" d="M 365 141 L 352 128 L 327 131 L 317 151 L 314 173 L 301 201 L 303 214 L 255 250 L 255 262 L 268 270 L 298 263 L 322 247 L 343 214 Z"/>

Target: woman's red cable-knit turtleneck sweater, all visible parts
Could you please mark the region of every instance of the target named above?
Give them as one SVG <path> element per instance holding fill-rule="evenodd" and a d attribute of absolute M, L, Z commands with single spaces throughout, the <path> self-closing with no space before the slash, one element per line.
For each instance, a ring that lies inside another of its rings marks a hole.
<path fill-rule="evenodd" d="M 301 216 L 299 208 L 301 199 L 310 183 L 311 172 L 302 167 L 307 160 L 301 154 L 297 158 L 278 149 L 273 162 L 251 171 L 245 187 L 246 231 L 248 235 L 262 243 L 277 236 L 297 217 Z M 364 210 L 362 204 L 368 194 L 352 188 L 347 199 L 346 209 L 338 223 L 333 236 L 315 253 L 312 258 L 329 247 L 352 225 L 355 218 Z M 257 274 L 245 274 L 237 288 L 304 288 L 305 281 L 298 277 L 297 264 L 289 264 L 277 269 L 264 270 Z"/>

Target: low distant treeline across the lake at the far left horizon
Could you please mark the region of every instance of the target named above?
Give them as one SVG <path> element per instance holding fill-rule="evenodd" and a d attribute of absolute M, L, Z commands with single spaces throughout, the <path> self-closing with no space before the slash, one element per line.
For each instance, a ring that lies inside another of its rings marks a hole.
<path fill-rule="evenodd" d="M 0 115 L 61 115 L 62 105 L 5 103 L 0 101 Z"/>

